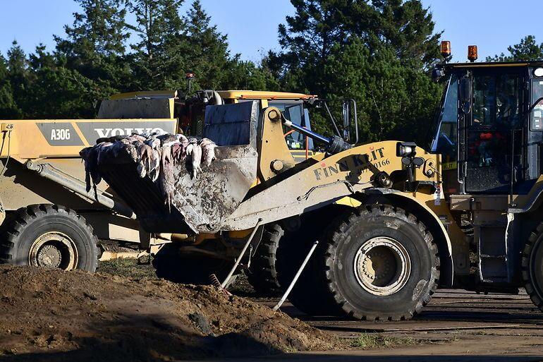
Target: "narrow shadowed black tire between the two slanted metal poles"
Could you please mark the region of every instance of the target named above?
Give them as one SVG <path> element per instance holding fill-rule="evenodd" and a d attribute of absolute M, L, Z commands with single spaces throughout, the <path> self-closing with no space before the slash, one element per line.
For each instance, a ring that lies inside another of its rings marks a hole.
<path fill-rule="evenodd" d="M 279 296 L 281 294 L 276 259 L 277 248 L 283 234 L 284 231 L 279 224 L 266 225 L 262 240 L 252 257 L 247 279 L 260 296 Z"/>

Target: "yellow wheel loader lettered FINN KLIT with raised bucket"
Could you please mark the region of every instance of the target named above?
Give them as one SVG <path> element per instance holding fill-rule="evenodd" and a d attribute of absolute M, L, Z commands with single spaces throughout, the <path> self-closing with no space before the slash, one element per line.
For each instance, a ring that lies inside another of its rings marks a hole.
<path fill-rule="evenodd" d="M 291 298 L 308 313 L 405 320 L 439 286 L 524 287 L 542 308 L 543 63 L 443 64 L 434 75 L 446 90 L 428 150 L 350 147 L 243 102 L 206 108 L 202 135 L 219 145 L 217 159 L 196 178 L 176 169 L 171 209 L 131 159 L 107 159 L 100 172 L 143 229 L 177 235 L 155 267 L 168 260 L 180 278 L 197 273 L 180 257 L 188 251 L 248 267 L 252 253 L 240 250 L 257 248 L 269 227 L 289 246 L 277 260 L 284 275 L 319 241 Z M 296 164 L 285 126 L 324 152 Z M 338 208 L 346 197 L 360 206 Z"/>

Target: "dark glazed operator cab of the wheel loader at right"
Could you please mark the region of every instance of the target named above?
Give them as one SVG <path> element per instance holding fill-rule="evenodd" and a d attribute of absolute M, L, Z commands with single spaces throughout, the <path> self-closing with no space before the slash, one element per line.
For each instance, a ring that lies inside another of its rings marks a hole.
<path fill-rule="evenodd" d="M 431 145 L 444 192 L 527 194 L 543 166 L 543 63 L 448 64 L 444 73 Z"/>

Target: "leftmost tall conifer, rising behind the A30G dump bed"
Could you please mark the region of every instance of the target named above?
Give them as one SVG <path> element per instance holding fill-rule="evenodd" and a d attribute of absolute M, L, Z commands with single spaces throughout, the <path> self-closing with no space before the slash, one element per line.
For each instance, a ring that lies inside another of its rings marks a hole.
<path fill-rule="evenodd" d="M 130 79 L 123 59 L 129 36 L 123 1 L 75 1 L 83 10 L 73 14 L 72 25 L 64 27 L 65 38 L 55 36 L 54 54 L 38 47 L 31 57 L 37 87 L 44 90 L 34 99 L 43 104 L 35 109 L 35 116 L 95 116 L 99 101 L 122 89 Z M 58 97 L 57 109 L 48 97 L 51 92 Z"/>

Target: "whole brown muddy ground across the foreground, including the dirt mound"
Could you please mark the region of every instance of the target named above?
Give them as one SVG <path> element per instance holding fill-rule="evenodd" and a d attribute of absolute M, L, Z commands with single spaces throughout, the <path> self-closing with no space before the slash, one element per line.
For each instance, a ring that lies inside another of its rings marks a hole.
<path fill-rule="evenodd" d="M 273 313 L 243 277 L 245 298 L 228 297 L 135 260 L 94 277 L 0 267 L 0 286 L 0 361 L 543 361 L 543 313 L 522 292 L 439 291 L 415 320 L 357 322 Z"/>

